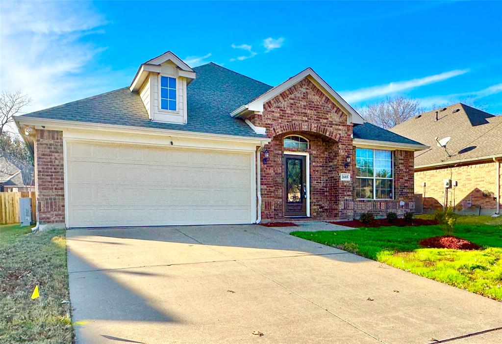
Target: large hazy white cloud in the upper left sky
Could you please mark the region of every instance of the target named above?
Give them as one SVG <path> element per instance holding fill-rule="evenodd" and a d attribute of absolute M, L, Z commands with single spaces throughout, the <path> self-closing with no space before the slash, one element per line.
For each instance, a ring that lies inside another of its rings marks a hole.
<path fill-rule="evenodd" d="M 102 33 L 106 24 L 92 5 L 2 2 L 0 6 L 0 87 L 27 93 L 32 103 L 26 111 L 107 91 L 117 80 L 129 82 L 120 72 L 93 64 L 106 47 L 81 40 Z"/>

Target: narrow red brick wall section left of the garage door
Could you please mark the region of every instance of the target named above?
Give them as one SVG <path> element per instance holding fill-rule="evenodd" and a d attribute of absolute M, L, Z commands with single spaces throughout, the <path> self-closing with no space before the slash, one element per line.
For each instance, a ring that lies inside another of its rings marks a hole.
<path fill-rule="evenodd" d="M 63 166 L 63 132 L 37 130 L 35 185 L 41 224 L 65 221 Z"/>

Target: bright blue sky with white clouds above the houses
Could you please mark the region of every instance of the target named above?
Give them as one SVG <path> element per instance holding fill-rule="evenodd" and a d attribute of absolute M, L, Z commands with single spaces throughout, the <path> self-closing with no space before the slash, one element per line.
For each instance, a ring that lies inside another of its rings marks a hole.
<path fill-rule="evenodd" d="M 171 50 L 271 85 L 312 67 L 359 108 L 405 95 L 502 113 L 500 2 L 2 2 L 2 89 L 37 110 L 128 86 Z"/>

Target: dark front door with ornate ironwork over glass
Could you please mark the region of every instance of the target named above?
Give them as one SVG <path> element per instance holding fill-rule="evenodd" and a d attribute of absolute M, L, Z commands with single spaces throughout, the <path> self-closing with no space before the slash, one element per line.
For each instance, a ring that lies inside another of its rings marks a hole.
<path fill-rule="evenodd" d="M 305 156 L 284 156 L 285 216 L 307 216 Z"/>

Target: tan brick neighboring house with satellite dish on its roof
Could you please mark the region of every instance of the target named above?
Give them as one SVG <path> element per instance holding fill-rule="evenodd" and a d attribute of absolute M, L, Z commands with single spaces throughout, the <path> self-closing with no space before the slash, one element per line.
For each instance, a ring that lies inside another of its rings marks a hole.
<path fill-rule="evenodd" d="M 499 213 L 502 116 L 457 103 L 422 113 L 391 131 L 430 146 L 415 152 L 415 192 L 423 195 L 424 211 L 442 207 L 448 196 L 447 204 L 451 201 L 465 213 Z M 435 137 L 451 137 L 446 151 Z M 445 189 L 445 179 L 458 186 Z"/>

